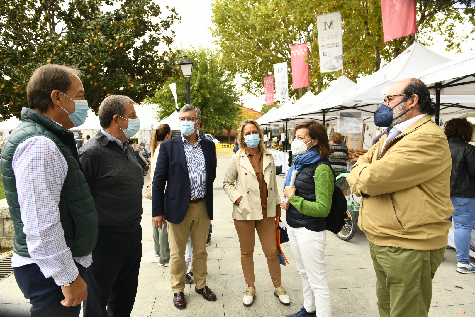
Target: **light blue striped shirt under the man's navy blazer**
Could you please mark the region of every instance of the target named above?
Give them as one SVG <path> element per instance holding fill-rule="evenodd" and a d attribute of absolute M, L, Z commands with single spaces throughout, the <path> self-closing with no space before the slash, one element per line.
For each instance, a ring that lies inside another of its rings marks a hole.
<path fill-rule="evenodd" d="M 183 148 L 185 149 L 186 164 L 188 166 L 188 179 L 190 180 L 191 199 L 199 199 L 206 196 L 206 164 L 200 138 L 191 145 L 181 134 Z"/>

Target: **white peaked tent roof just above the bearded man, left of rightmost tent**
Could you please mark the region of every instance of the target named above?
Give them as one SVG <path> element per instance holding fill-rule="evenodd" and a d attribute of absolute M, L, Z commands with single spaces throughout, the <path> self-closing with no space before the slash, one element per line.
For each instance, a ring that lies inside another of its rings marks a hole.
<path fill-rule="evenodd" d="M 337 118 L 338 112 L 355 109 L 366 112 L 368 117 L 372 116 L 382 102 L 382 91 L 401 79 L 414 78 L 431 67 L 449 61 L 449 58 L 416 42 L 374 74 L 361 78 L 352 88 L 313 109 L 307 109 L 300 116 L 335 113 L 332 116 Z"/>

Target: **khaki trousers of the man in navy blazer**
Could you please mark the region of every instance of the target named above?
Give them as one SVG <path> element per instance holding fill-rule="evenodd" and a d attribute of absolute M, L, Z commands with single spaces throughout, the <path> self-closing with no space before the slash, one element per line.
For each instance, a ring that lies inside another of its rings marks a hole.
<path fill-rule="evenodd" d="M 208 276 L 206 267 L 206 261 L 208 260 L 206 240 L 208 239 L 210 223 L 211 221 L 209 220 L 208 211 L 206 209 L 206 199 L 201 202 L 190 203 L 185 219 L 180 223 L 168 222 L 170 279 L 173 293 L 180 293 L 185 290 L 185 250 L 190 232 L 191 259 L 195 285 L 197 288 L 204 288 L 206 286 L 206 277 Z"/>

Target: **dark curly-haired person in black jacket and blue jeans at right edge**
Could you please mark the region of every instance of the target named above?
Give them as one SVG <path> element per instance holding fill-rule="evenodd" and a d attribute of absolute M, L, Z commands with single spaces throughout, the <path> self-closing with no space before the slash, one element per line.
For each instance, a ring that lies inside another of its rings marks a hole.
<path fill-rule="evenodd" d="M 454 118 L 446 122 L 444 133 L 452 156 L 450 173 L 450 200 L 454 205 L 454 242 L 459 273 L 475 273 L 470 263 L 470 240 L 475 222 L 475 147 L 473 127 L 466 118 Z"/>

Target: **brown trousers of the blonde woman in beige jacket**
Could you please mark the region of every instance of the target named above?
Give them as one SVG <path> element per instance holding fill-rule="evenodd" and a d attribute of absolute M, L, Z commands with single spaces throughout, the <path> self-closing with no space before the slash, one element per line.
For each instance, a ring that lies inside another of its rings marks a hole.
<path fill-rule="evenodd" d="M 266 217 L 266 208 L 263 208 Z M 277 253 L 276 219 L 264 218 L 261 220 L 236 220 L 234 219 L 239 245 L 241 247 L 241 266 L 246 284 L 253 284 L 254 278 L 254 232 L 257 231 L 262 250 L 267 259 L 270 277 L 275 288 L 282 286 L 280 260 Z M 191 238 L 193 241 L 193 238 Z M 194 271 L 193 271 L 194 274 Z"/>

